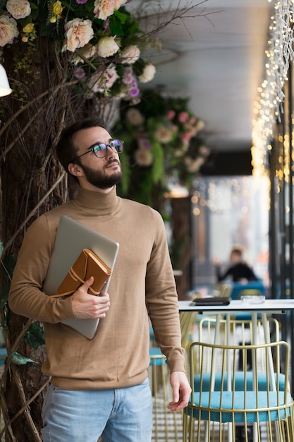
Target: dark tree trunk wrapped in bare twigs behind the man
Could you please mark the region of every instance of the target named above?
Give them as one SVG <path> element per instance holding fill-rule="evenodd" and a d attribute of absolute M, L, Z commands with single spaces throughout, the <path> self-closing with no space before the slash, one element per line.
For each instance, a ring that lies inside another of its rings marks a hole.
<path fill-rule="evenodd" d="M 2 261 L 18 256 L 27 226 L 37 216 L 66 200 L 66 175 L 54 156 L 54 143 L 63 123 L 85 110 L 85 97 L 66 83 L 67 65 L 62 66 L 61 55 L 57 58 L 54 44 L 47 39 L 39 39 L 36 48 L 22 42 L 5 47 L 4 59 L 8 76 L 13 78 L 13 95 L 1 99 Z M 41 372 L 45 347 L 35 349 L 21 339 L 28 320 L 9 311 L 7 303 L 4 305 L 7 284 L 9 277 L 4 271 L 1 322 L 8 359 L 0 403 L 7 426 L 6 441 L 41 441 L 41 407 L 48 382 Z M 34 362 L 11 363 L 12 350 Z"/>

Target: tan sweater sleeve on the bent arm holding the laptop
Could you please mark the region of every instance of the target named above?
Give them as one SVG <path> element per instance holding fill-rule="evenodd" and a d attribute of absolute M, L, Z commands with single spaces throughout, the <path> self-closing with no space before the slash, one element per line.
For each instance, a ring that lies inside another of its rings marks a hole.
<path fill-rule="evenodd" d="M 51 298 L 42 292 L 54 240 L 46 215 L 39 217 L 27 229 L 8 296 L 12 311 L 48 323 L 74 317 L 70 297 Z"/>

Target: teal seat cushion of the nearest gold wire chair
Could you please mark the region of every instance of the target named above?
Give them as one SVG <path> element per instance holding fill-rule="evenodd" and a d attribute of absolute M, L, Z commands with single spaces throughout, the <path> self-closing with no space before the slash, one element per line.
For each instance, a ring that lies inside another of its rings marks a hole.
<path fill-rule="evenodd" d="M 277 421 L 278 419 L 285 419 L 290 415 L 290 406 L 293 403 L 290 393 L 286 396 L 286 407 L 277 410 L 277 407 L 282 407 L 284 404 L 285 393 L 274 391 L 257 393 L 255 391 L 247 391 L 244 398 L 244 392 L 240 391 L 235 394 L 233 400 L 233 393 L 231 391 L 224 391 L 221 398 L 219 391 L 213 393 L 202 392 L 201 404 L 200 393 L 194 393 L 194 407 L 188 405 L 188 414 L 194 419 L 210 420 L 213 422 L 267 422 Z M 209 402 L 210 400 L 210 402 Z M 246 411 L 244 412 L 244 404 L 246 404 Z M 221 407 L 221 412 L 219 408 Z M 271 408 L 265 411 L 265 408 Z M 232 412 L 240 410 L 240 412 Z M 258 410 L 257 410 L 258 408 Z M 227 411 L 226 411 L 227 410 Z"/>

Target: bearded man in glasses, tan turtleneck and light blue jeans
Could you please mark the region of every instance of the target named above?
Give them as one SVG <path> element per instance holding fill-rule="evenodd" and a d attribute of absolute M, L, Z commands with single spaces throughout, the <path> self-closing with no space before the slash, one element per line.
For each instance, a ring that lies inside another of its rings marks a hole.
<path fill-rule="evenodd" d="M 100 435 L 104 442 L 151 441 L 148 314 L 171 371 L 169 409 L 188 404 L 164 223 L 152 208 L 116 195 L 122 147 L 99 118 L 78 121 L 61 133 L 56 153 L 78 180 L 79 195 L 32 223 L 13 273 L 11 309 L 44 322 L 47 359 L 42 371 L 51 376 L 42 411 L 44 442 L 97 442 Z M 105 296 L 88 294 L 94 275 L 71 297 L 42 292 L 61 215 L 120 244 Z M 94 339 L 61 323 L 68 318 L 99 318 Z"/>

